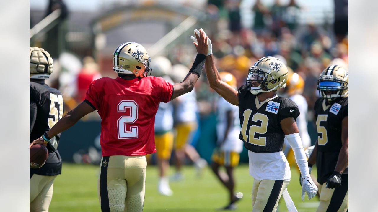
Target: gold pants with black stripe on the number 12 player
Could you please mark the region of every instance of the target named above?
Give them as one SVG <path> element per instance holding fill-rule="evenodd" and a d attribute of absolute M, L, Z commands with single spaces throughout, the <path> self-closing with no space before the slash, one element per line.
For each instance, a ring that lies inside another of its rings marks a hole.
<path fill-rule="evenodd" d="M 276 212 L 278 201 L 289 181 L 254 180 L 252 186 L 253 212 Z"/>

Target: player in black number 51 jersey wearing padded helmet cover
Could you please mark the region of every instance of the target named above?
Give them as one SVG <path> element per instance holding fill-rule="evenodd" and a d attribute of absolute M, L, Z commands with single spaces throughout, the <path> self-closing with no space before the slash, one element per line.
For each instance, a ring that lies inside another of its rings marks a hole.
<path fill-rule="evenodd" d="M 53 58 L 42 48 L 30 47 L 30 137 L 29 143 L 48 131 L 63 116 L 63 97 L 55 88 L 45 84 L 53 72 Z M 59 136 L 48 138 L 48 159 L 38 168 L 29 170 L 29 209 L 31 212 L 48 211 L 53 197 L 53 183 L 62 171 L 62 159 L 57 146 Z"/>

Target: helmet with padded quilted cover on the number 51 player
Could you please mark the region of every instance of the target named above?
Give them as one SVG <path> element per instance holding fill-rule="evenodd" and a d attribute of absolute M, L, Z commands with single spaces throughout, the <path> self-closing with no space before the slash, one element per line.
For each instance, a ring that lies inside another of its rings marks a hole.
<path fill-rule="evenodd" d="M 31 79 L 48 79 L 53 73 L 53 58 L 45 49 L 29 47 L 29 77 Z"/>

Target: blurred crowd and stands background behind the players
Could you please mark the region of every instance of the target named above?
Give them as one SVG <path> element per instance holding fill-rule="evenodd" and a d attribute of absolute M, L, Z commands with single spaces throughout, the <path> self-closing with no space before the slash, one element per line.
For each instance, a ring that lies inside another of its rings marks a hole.
<path fill-rule="evenodd" d="M 172 65 L 190 68 L 196 55 L 190 36 L 196 28 L 211 38 L 218 70 L 232 73 L 238 86 L 245 83 L 249 67 L 265 56 L 280 58 L 299 74 L 308 103 L 308 132 L 312 143 L 316 141 L 313 104 L 319 97 L 319 74 L 331 63 L 348 68 L 348 0 L 30 2 L 30 46 L 42 47 L 54 58 L 54 72 L 46 83 L 62 92 L 65 112 L 84 100 L 91 81 L 116 77 L 112 53 L 121 43 L 142 44 L 152 64 L 164 56 Z M 205 74 L 195 92 L 198 130 L 192 144 L 209 161 L 216 143 L 218 95 Z M 100 121 L 98 114 L 89 114 L 62 134 L 63 160 L 98 162 Z M 81 142 L 72 148 L 70 140 Z M 246 152 L 240 161 L 248 161 Z"/>

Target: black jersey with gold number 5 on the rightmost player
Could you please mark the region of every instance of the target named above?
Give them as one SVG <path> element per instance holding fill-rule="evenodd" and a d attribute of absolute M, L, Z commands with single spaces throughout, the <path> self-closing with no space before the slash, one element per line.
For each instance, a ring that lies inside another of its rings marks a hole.
<path fill-rule="evenodd" d="M 325 98 L 315 102 L 314 110 L 318 129 L 318 147 L 316 154 L 317 181 L 323 184 L 335 171 L 341 142 L 341 121 L 348 116 L 349 97 L 340 98 L 327 104 Z M 343 174 L 348 174 L 348 167 Z"/>

